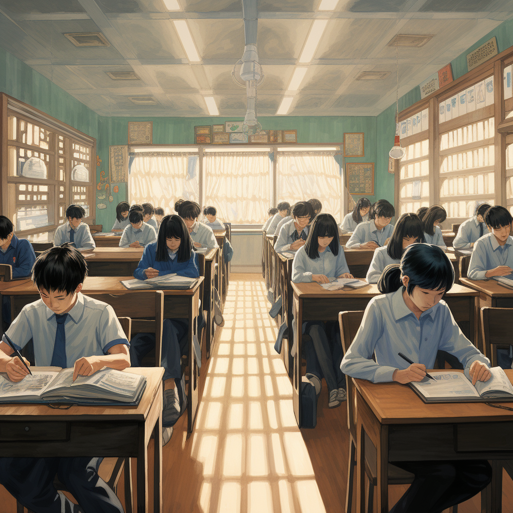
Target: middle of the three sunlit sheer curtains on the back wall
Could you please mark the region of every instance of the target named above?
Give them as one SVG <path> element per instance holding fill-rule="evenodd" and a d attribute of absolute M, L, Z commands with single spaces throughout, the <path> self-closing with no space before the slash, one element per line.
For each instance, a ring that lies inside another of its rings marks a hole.
<path fill-rule="evenodd" d="M 230 223 L 264 223 L 270 207 L 269 152 L 205 152 L 204 205 Z"/>

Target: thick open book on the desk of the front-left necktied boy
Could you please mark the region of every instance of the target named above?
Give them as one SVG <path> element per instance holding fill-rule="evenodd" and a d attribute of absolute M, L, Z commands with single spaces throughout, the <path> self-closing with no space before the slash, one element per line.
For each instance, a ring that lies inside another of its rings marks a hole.
<path fill-rule="evenodd" d="M 140 374 L 104 368 L 73 381 L 72 367 L 59 369 L 35 368 L 16 383 L 0 374 L 0 403 L 138 404 L 146 387 Z"/>

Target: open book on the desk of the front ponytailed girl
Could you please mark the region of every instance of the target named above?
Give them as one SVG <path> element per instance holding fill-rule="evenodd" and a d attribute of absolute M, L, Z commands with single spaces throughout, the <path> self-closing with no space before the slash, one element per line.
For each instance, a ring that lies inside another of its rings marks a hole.
<path fill-rule="evenodd" d="M 424 378 L 409 385 L 425 403 L 455 403 L 504 400 L 513 402 L 513 386 L 504 370 L 492 367 L 488 381 L 478 381 L 475 386 L 463 372 L 450 369 L 431 370 L 435 381 Z"/>

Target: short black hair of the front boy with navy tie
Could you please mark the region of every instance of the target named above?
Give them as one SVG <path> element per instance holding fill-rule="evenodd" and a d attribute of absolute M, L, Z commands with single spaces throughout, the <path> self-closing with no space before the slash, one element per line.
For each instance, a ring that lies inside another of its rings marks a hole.
<path fill-rule="evenodd" d="M 41 290 L 74 292 L 87 276 L 87 263 L 69 242 L 40 254 L 32 267 L 32 281 Z"/>

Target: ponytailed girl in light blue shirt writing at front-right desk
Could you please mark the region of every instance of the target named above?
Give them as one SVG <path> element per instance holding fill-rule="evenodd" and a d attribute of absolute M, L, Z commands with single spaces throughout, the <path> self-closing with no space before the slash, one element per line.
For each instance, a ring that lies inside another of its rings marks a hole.
<path fill-rule="evenodd" d="M 473 384 L 487 381 L 489 360 L 464 336 L 441 301 L 453 282 L 452 264 L 439 246 L 409 246 L 401 264 L 383 272 L 378 287 L 384 295 L 367 305 L 342 360 L 342 372 L 373 383 L 418 382 L 426 368 L 435 365 L 437 351 L 443 350 L 458 358 Z M 400 352 L 415 363 L 408 365 Z M 486 460 L 393 464 L 415 474 L 415 480 L 390 513 L 439 513 L 476 495 L 491 481 Z"/>

